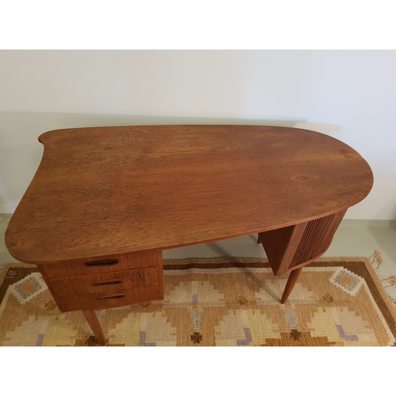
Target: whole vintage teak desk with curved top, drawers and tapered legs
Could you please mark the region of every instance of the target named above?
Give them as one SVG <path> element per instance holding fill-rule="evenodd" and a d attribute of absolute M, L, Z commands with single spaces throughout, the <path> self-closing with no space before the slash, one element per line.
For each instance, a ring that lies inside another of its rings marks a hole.
<path fill-rule="evenodd" d="M 40 166 L 5 234 L 36 264 L 62 312 L 163 298 L 162 250 L 258 233 L 275 275 L 332 242 L 373 174 L 346 144 L 271 126 L 160 125 L 62 129 L 39 137 Z"/>

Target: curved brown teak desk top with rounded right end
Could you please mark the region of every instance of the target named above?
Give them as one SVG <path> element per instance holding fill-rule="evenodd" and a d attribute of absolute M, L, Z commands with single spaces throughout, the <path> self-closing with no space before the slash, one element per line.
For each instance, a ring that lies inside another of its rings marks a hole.
<path fill-rule="evenodd" d="M 193 245 L 358 203 L 367 162 L 297 128 L 160 125 L 49 131 L 5 244 L 34 264 Z"/>

